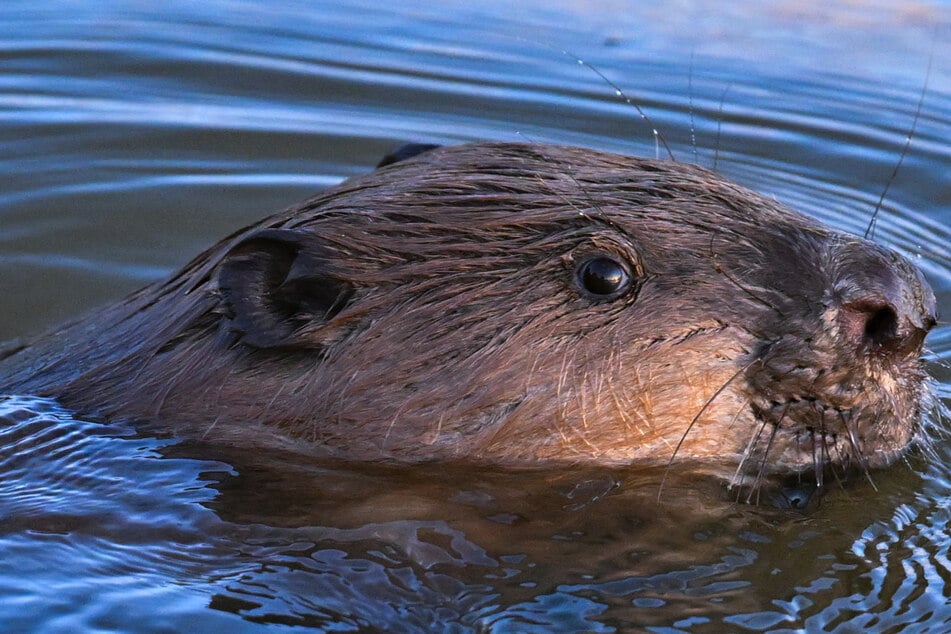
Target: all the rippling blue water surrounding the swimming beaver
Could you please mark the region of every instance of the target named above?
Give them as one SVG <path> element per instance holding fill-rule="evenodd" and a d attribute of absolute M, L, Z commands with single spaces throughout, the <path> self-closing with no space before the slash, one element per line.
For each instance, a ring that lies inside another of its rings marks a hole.
<path fill-rule="evenodd" d="M 0 340 L 405 141 L 679 160 L 876 239 L 951 314 L 942 3 L 5 2 Z M 565 55 L 561 50 L 570 50 Z M 579 56 L 623 88 L 633 108 Z M 696 143 L 693 143 L 696 139 Z M 951 328 L 929 338 L 951 398 Z M 3 631 L 951 628 L 951 444 L 795 512 L 689 478 L 211 452 L 0 402 Z"/>

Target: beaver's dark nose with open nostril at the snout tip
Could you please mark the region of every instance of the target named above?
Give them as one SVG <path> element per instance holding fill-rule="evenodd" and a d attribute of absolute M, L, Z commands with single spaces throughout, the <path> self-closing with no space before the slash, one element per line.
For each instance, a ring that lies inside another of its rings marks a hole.
<path fill-rule="evenodd" d="M 869 242 L 843 245 L 833 295 L 844 338 L 856 348 L 919 354 L 938 321 L 934 292 L 900 255 Z"/>

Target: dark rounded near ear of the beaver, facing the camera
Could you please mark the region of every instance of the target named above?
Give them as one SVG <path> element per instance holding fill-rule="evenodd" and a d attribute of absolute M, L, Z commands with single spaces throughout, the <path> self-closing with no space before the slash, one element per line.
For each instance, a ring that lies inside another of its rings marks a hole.
<path fill-rule="evenodd" d="M 327 258 L 288 229 L 258 231 L 235 245 L 218 288 L 241 341 L 256 348 L 320 347 L 319 327 L 339 313 L 353 287 L 329 275 Z"/>

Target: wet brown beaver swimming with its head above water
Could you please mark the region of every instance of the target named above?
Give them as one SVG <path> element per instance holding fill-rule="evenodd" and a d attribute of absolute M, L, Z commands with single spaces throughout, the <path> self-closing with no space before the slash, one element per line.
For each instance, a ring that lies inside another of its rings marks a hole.
<path fill-rule="evenodd" d="M 921 437 L 935 297 L 900 255 L 669 160 L 381 165 L 11 348 L 0 389 L 348 460 L 791 473 Z"/>

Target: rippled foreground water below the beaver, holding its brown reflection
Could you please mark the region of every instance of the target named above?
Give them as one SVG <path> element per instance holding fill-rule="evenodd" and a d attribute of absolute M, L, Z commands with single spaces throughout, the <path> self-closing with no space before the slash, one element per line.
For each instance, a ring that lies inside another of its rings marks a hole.
<path fill-rule="evenodd" d="M 232 617 L 811 630 L 850 611 L 913 623 L 943 609 L 947 487 L 927 470 L 924 487 L 899 468 L 803 515 L 676 474 L 658 502 L 663 470 L 297 463 L 144 438 L 41 399 L 6 400 L 0 421 L 0 592 L 16 598 L 2 618 L 17 629 L 42 614 L 74 630 Z"/>

